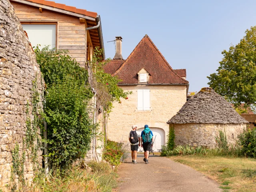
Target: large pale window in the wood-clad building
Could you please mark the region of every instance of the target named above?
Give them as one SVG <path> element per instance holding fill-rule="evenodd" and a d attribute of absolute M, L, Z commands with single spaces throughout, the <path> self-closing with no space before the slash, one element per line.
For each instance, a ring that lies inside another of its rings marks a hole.
<path fill-rule="evenodd" d="M 56 47 L 56 24 L 22 24 L 23 30 L 27 32 L 32 47 L 40 44 L 40 49 L 49 45 Z"/>

